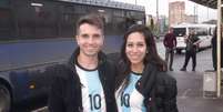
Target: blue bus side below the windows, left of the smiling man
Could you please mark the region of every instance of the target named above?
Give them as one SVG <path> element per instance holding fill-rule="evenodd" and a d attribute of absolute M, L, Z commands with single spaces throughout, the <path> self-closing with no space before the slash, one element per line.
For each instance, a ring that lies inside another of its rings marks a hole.
<path fill-rule="evenodd" d="M 24 41 L 1 44 L 0 51 L 8 51 L 8 61 L 2 63 L 2 71 L 8 71 L 13 85 L 14 100 L 22 101 L 45 94 L 49 77 L 48 67 L 67 61 L 75 42 L 73 40 Z M 1 58 L 2 59 L 2 58 Z M 9 64 L 7 67 L 7 63 Z M 34 89 L 30 89 L 34 84 Z"/>

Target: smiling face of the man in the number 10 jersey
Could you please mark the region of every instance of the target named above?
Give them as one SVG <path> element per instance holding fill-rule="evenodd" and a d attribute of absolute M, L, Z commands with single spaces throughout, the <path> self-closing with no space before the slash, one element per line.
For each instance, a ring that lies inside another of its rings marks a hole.
<path fill-rule="evenodd" d="M 102 30 L 95 26 L 83 23 L 79 28 L 77 42 L 80 47 L 80 54 L 85 57 L 97 57 L 103 45 Z"/>

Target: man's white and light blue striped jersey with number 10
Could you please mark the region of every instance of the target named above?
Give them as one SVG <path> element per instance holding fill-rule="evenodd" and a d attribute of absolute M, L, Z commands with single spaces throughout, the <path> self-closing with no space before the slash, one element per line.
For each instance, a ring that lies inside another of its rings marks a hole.
<path fill-rule="evenodd" d="M 85 70 L 75 65 L 82 84 L 83 112 L 107 112 L 103 88 L 98 70 Z"/>

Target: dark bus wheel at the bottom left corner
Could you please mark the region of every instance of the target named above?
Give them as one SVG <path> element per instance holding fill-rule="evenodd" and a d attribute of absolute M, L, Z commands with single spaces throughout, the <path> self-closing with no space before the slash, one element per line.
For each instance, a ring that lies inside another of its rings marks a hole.
<path fill-rule="evenodd" d="M 3 84 L 0 83 L 0 112 L 9 112 L 10 103 L 10 92 Z"/>

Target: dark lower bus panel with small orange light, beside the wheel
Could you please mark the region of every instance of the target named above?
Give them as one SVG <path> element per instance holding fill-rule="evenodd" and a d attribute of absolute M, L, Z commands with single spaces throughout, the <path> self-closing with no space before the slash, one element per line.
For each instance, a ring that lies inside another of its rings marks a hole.
<path fill-rule="evenodd" d="M 55 63 L 54 63 L 55 64 Z M 47 100 L 51 79 L 45 69 L 51 65 L 41 65 L 10 72 L 10 80 L 14 90 L 14 103 L 24 103 L 36 100 Z"/>

